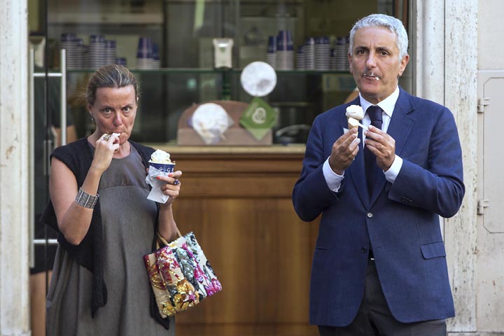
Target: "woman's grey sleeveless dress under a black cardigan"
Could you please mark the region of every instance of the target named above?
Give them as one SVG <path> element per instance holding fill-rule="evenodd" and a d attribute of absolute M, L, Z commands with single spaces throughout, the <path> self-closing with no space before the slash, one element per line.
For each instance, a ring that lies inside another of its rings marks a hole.
<path fill-rule="evenodd" d="M 48 335 L 175 335 L 150 314 L 151 284 L 143 256 L 151 252 L 157 216 L 147 200 L 146 170 L 131 146 L 113 159 L 99 183 L 107 302 L 91 317 L 92 273 L 58 246 L 47 298 Z"/>

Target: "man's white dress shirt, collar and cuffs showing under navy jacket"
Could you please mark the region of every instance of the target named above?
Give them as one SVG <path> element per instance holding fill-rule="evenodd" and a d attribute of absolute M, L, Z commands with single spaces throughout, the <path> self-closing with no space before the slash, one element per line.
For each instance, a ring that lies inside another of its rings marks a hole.
<path fill-rule="evenodd" d="M 359 93 L 359 98 L 360 98 L 360 106 L 362 106 L 364 111 L 367 111 L 367 108 L 372 106 L 370 102 L 367 102 L 362 95 Z M 383 118 L 383 123 L 381 124 L 381 130 L 386 132 L 388 130 L 388 125 L 390 124 L 391 118 L 392 118 L 392 113 L 395 108 L 395 103 L 397 102 L 397 99 L 399 98 L 399 87 L 395 88 L 395 91 L 386 99 L 382 100 L 379 102 L 378 106 L 381 107 L 383 112 L 381 113 L 381 116 Z M 363 120 L 361 120 L 362 124 L 365 126 L 369 126 L 371 124 L 371 119 L 367 115 L 367 113 L 364 114 Z M 364 140 L 365 140 L 365 135 L 364 132 L 362 132 L 362 143 L 364 145 Z M 395 155 L 395 160 L 392 163 L 391 167 L 384 172 L 385 174 L 385 179 L 390 182 L 394 183 L 395 178 L 398 176 L 400 169 L 402 167 L 402 159 L 398 156 Z M 329 158 L 325 160 L 323 167 L 322 167 L 323 175 L 325 177 L 325 182 L 328 184 L 328 187 L 330 190 L 334 191 L 335 193 L 338 192 L 339 187 L 341 186 L 341 183 L 344 179 L 344 172 L 343 175 L 338 175 L 336 174 L 330 167 L 329 165 Z"/>

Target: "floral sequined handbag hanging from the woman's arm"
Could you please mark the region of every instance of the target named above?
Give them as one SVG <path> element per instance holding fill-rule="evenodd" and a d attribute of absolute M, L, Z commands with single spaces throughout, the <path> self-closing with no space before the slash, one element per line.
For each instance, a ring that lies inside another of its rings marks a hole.
<path fill-rule="evenodd" d="M 144 255 L 156 304 L 162 318 L 194 307 L 200 301 L 222 290 L 221 282 L 204 255 L 193 232 Z"/>

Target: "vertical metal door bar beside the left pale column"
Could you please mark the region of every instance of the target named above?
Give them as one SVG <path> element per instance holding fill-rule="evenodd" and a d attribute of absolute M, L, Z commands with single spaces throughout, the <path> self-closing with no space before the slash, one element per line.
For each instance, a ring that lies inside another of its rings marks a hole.
<path fill-rule="evenodd" d="M 29 50 L 28 60 L 29 72 L 29 116 L 28 116 L 28 169 L 29 169 L 29 209 L 28 209 L 28 223 L 29 223 L 29 265 L 30 268 L 35 267 L 35 52 L 34 48 Z"/>

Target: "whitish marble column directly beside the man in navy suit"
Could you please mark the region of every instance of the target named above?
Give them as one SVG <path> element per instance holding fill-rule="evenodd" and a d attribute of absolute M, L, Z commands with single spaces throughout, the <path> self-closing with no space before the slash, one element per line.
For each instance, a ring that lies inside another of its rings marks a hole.
<path fill-rule="evenodd" d="M 477 331 L 477 16 L 478 1 L 412 1 L 414 88 L 454 114 L 461 139 L 465 197 L 444 220 L 444 241 L 456 317 L 449 332 Z"/>

